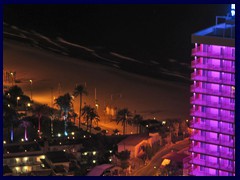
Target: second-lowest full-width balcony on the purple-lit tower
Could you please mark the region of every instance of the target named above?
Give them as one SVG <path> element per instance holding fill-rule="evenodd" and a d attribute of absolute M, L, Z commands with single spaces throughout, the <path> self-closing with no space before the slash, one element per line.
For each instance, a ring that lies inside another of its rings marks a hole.
<path fill-rule="evenodd" d="M 199 154 L 206 154 L 214 157 L 220 157 L 224 159 L 230 159 L 230 160 L 234 160 L 234 157 L 235 157 L 233 153 L 226 153 L 223 151 L 217 152 L 217 151 L 210 150 L 209 148 L 200 148 L 197 146 L 190 147 L 189 151 L 199 153 Z"/>

